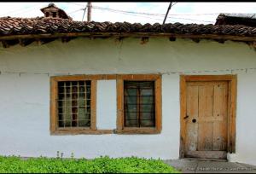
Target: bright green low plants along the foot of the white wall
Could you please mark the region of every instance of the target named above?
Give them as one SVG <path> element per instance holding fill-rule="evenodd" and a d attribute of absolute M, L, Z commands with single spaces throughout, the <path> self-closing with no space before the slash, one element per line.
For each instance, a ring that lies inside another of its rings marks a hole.
<path fill-rule="evenodd" d="M 20 159 L 15 156 L 0 156 L 0 173 L 177 173 L 160 159 L 136 157 L 111 159 Z"/>

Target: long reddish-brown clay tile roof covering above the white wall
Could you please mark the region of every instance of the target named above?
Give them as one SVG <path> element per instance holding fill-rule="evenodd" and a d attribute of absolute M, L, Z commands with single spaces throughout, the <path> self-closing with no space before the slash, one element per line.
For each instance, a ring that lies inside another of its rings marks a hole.
<path fill-rule="evenodd" d="M 217 34 L 230 36 L 256 37 L 256 27 L 242 25 L 203 25 L 159 23 L 140 24 L 129 22 L 81 22 L 56 18 L 0 18 L 0 36 L 68 33 L 68 32 L 153 32 L 174 34 Z"/>

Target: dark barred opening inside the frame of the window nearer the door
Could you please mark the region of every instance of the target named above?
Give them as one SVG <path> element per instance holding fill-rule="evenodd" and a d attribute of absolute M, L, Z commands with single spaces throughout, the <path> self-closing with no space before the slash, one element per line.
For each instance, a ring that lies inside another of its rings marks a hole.
<path fill-rule="evenodd" d="M 124 81 L 125 127 L 154 127 L 154 81 Z"/>

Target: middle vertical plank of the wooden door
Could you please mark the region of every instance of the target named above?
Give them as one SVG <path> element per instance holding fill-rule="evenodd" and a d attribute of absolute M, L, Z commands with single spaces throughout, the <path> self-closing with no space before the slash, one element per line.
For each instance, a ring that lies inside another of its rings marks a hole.
<path fill-rule="evenodd" d="M 213 114 L 213 85 L 199 86 L 199 121 L 198 125 L 198 150 L 207 151 L 213 148 L 213 123 L 207 121 Z"/>

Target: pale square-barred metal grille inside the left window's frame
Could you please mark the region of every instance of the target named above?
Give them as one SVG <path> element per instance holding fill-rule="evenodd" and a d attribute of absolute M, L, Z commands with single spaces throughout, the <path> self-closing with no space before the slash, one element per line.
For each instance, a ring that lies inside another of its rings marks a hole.
<path fill-rule="evenodd" d="M 58 126 L 90 127 L 90 80 L 59 81 Z"/>

